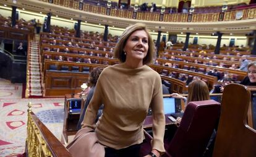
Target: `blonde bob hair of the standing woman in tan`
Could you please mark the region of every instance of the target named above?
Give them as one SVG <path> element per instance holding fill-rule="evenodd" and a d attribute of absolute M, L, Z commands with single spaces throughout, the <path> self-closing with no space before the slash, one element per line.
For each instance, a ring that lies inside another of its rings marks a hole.
<path fill-rule="evenodd" d="M 132 33 L 134 33 L 137 30 L 145 30 L 145 32 L 148 35 L 148 53 L 147 53 L 147 56 L 143 58 L 143 65 L 151 64 L 153 63 L 153 58 L 155 56 L 155 49 L 154 49 L 154 44 L 153 44 L 151 35 L 148 32 L 146 25 L 143 23 L 136 23 L 134 25 L 130 25 L 129 27 L 126 28 L 126 30 L 124 30 L 124 32 L 120 36 L 118 43 L 114 48 L 114 57 L 119 59 L 120 62 L 126 61 L 126 54 L 124 54 L 124 46 L 126 46 L 126 41 L 130 37 L 130 35 L 132 35 Z"/>

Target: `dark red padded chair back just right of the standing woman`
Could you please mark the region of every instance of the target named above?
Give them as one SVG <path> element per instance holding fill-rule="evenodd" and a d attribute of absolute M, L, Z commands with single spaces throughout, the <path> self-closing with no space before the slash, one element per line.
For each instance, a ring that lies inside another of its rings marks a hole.
<path fill-rule="evenodd" d="M 172 157 L 202 156 L 219 116 L 220 103 L 215 100 L 192 101 L 187 104 L 166 154 Z"/>

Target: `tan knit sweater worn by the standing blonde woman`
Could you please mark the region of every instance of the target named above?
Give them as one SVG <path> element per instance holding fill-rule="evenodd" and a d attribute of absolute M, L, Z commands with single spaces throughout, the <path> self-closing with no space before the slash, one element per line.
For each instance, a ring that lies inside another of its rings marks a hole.
<path fill-rule="evenodd" d="M 99 142 L 114 149 L 142 143 L 143 122 L 148 108 L 153 110 L 152 148 L 164 152 L 165 118 L 160 75 L 147 65 L 129 69 L 125 64 L 106 67 L 88 105 L 83 127 L 95 127 L 96 113 L 104 104 L 96 124 Z"/>

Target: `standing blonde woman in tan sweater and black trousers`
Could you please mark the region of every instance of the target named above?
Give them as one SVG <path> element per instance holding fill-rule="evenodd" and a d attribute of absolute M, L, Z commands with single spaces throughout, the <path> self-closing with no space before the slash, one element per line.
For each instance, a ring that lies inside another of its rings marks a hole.
<path fill-rule="evenodd" d="M 96 84 L 82 127 L 95 128 L 105 156 L 139 156 L 143 122 L 153 111 L 153 140 L 149 156 L 164 152 L 165 117 L 160 75 L 148 67 L 155 51 L 146 25 L 137 23 L 124 30 L 114 49 L 120 64 L 106 67 Z M 101 104 L 103 114 L 94 125 Z"/>

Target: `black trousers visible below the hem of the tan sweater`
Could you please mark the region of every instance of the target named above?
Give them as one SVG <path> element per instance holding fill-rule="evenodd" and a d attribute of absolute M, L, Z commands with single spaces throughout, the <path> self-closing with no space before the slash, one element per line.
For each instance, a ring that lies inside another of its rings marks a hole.
<path fill-rule="evenodd" d="M 105 148 L 105 157 L 139 157 L 141 144 L 131 145 L 127 148 L 115 150 L 114 148 Z"/>

